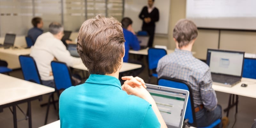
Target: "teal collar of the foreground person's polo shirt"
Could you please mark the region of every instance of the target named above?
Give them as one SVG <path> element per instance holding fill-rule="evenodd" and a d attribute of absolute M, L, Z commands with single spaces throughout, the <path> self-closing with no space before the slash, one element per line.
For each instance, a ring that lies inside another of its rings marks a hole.
<path fill-rule="evenodd" d="M 120 81 L 116 77 L 108 75 L 91 74 L 85 83 L 108 84 L 116 86 L 122 90 Z"/>

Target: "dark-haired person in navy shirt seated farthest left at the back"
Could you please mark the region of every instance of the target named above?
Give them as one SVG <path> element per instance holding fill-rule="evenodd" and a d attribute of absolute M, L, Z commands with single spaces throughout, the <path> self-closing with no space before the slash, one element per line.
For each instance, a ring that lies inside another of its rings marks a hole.
<path fill-rule="evenodd" d="M 31 20 L 31 23 L 34 27 L 28 30 L 28 37 L 31 38 L 33 44 L 35 44 L 37 37 L 43 34 L 42 28 L 44 26 L 44 23 L 42 18 L 40 17 L 34 17 Z"/>

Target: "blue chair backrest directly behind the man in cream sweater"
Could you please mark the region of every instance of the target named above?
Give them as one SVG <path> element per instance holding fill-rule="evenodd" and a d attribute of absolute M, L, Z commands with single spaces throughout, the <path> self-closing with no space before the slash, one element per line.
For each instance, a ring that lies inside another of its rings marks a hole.
<path fill-rule="evenodd" d="M 36 67 L 36 61 L 33 59 L 33 57 L 20 55 L 19 60 L 24 80 L 42 84 L 38 69 Z"/>

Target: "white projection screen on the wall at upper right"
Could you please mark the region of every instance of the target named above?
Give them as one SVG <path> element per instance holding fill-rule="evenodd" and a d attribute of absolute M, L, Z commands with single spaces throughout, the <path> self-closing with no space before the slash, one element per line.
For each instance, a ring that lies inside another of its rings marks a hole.
<path fill-rule="evenodd" d="M 187 0 L 186 18 L 202 28 L 256 30 L 256 0 Z"/>

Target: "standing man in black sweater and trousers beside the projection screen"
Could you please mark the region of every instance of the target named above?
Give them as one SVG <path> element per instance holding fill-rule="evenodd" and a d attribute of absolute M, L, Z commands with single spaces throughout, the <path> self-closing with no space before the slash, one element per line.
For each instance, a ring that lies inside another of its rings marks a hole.
<path fill-rule="evenodd" d="M 148 5 L 144 6 L 140 12 L 140 19 L 143 20 L 142 31 L 147 31 L 149 35 L 148 47 L 152 47 L 155 35 L 155 22 L 159 20 L 159 11 L 154 6 L 155 0 L 148 0 Z"/>

